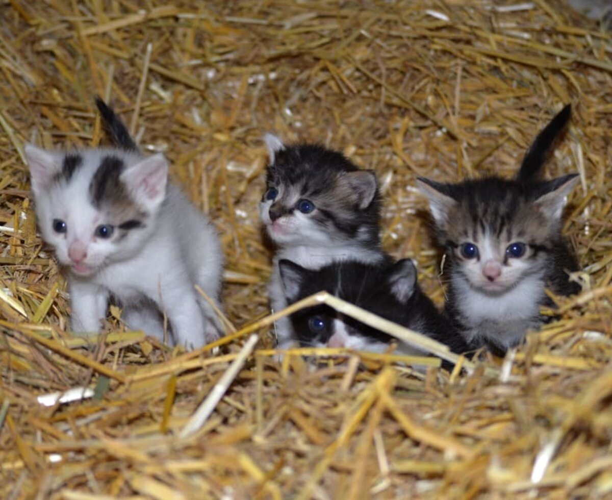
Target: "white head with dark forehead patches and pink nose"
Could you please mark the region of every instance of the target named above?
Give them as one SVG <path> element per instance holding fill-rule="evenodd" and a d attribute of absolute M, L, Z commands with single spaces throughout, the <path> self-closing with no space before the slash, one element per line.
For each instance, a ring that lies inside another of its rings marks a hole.
<path fill-rule="evenodd" d="M 32 144 L 25 154 L 40 232 L 61 264 L 88 276 L 143 247 L 166 195 L 163 155 Z"/>

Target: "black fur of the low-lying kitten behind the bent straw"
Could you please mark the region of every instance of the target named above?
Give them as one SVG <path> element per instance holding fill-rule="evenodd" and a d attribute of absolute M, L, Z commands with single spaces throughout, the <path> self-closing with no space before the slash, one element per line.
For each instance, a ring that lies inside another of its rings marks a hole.
<path fill-rule="evenodd" d="M 397 274 L 397 268 L 405 261 L 394 264 L 387 256 L 383 263 L 364 264 L 354 261 L 342 261 L 325 266 L 318 271 L 304 269 L 291 261 L 280 261 L 281 274 L 290 269 L 293 276 L 299 280 L 299 294 L 289 298 L 291 304 L 310 296 L 318 291 L 327 291 L 340 299 L 351 302 L 359 307 L 375 313 L 382 318 L 410 329 L 422 332 L 450 347 L 454 353 L 465 353 L 469 346 L 452 324 L 442 316 L 431 300 L 414 283 L 411 296 L 404 302 L 392 293 L 392 283 Z M 338 316 L 327 305 L 305 308 L 291 315 L 291 322 L 302 346 L 312 346 L 315 341 L 327 343 L 333 332 L 326 330 L 316 336 L 310 330 L 308 322 L 313 316 L 323 318 L 340 318 L 348 326 L 353 335 L 365 337 L 367 340 L 391 343 L 395 337 L 375 328 L 360 323 L 348 316 Z M 444 362 L 444 367 L 449 364 Z"/>

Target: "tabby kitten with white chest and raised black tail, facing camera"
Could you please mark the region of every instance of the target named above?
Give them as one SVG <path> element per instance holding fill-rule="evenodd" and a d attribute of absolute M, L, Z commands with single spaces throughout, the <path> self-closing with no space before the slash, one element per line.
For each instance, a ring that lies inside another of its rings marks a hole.
<path fill-rule="evenodd" d="M 487 177 L 442 184 L 417 181 L 430 202 L 449 274 L 446 312 L 472 347 L 502 354 L 545 321 L 545 293 L 578 293 L 569 272 L 578 264 L 561 236 L 567 195 L 578 174 L 536 181 L 567 124 L 565 108 L 540 132 L 517 178 Z"/>

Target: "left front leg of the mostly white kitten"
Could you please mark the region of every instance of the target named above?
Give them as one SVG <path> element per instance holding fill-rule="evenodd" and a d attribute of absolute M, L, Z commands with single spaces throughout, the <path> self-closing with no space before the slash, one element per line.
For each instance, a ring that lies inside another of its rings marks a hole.
<path fill-rule="evenodd" d="M 108 292 L 100 286 L 75 277 L 69 278 L 69 289 L 72 330 L 75 332 L 99 332 L 100 321 L 106 316 Z"/>

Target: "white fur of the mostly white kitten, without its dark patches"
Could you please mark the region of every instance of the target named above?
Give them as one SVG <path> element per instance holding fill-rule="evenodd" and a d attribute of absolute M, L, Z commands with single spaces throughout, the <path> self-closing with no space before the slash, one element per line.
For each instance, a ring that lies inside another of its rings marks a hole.
<path fill-rule="evenodd" d="M 152 300 L 168 315 L 176 343 L 197 347 L 218 337 L 214 312 L 194 288 L 198 284 L 218 300 L 223 266 L 218 236 L 178 188 L 170 184 L 166 187 L 165 159 L 160 155 L 145 159 L 117 149 L 80 151 L 83 165 L 64 185 L 50 182 L 61 170 L 64 152 L 41 151 L 26 147 L 36 213 L 43 239 L 54 247 L 59 262 L 69 271 L 73 329 L 97 332 L 112 294 L 126 311 L 138 308 L 144 297 Z M 108 154 L 121 157 L 129 165 L 122 180 L 132 176 L 132 166 L 146 164 L 147 170 L 144 176 L 135 174 L 132 179 L 132 185 L 144 183 L 132 190 L 132 195 L 149 212 L 144 219 L 146 227 L 128 231 L 121 241 L 94 236 L 95 228 L 106 220 L 105 214 L 90 203 L 88 187 L 100 160 Z M 45 168 L 41 168 L 45 162 Z M 66 233 L 53 230 L 54 218 L 65 221 Z M 77 272 L 68 255 L 75 241 L 86 245 L 85 271 Z M 129 312 L 126 316 L 136 321 L 138 317 L 143 316 Z M 141 323 L 151 328 L 155 321 Z M 132 321 L 129 326 L 141 328 Z M 161 326 L 149 333 L 161 335 Z"/>

